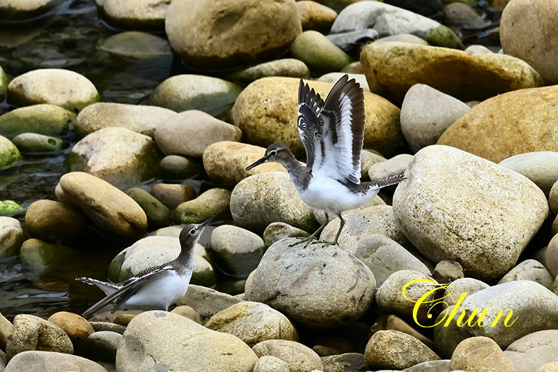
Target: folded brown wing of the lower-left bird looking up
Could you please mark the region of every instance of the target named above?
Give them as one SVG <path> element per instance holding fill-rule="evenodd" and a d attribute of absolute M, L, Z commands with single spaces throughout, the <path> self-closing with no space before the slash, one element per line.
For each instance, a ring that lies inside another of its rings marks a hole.
<path fill-rule="evenodd" d="M 144 283 L 146 283 L 146 280 L 148 278 L 150 278 L 153 275 L 159 274 L 160 272 L 167 271 L 169 269 L 172 269 L 172 266 L 168 264 L 149 267 L 149 269 L 145 269 L 144 271 L 137 273 L 135 276 L 132 276 L 127 281 L 123 281 L 121 283 L 115 284 L 116 286 L 118 286 L 118 289 L 116 289 L 110 295 L 107 295 L 107 297 L 101 299 L 99 302 L 97 302 L 96 304 L 88 308 L 83 313 L 83 317 L 89 318 L 91 315 L 99 311 L 101 308 L 107 306 L 107 304 L 110 304 L 111 302 L 116 302 L 117 305 L 122 304 L 126 299 L 130 298 L 130 296 L 133 295 L 133 293 L 137 292 L 137 290 L 139 290 L 140 287 Z M 77 280 L 82 281 L 81 279 L 82 278 L 78 278 Z M 84 281 L 84 283 L 87 282 Z"/>

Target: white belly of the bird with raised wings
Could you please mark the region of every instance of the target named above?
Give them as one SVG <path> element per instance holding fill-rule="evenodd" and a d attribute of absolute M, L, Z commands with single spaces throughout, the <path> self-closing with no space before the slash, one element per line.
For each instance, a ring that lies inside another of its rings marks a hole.
<path fill-rule="evenodd" d="M 345 185 L 329 177 L 312 178 L 306 190 L 299 190 L 302 200 L 312 208 L 321 209 L 329 214 L 355 209 L 374 198 L 378 191 L 354 193 Z"/>

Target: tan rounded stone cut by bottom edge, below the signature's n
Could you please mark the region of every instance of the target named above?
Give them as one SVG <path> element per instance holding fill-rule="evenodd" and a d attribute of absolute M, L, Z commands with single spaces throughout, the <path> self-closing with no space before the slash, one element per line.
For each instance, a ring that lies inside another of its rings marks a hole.
<path fill-rule="evenodd" d="M 452 370 L 515 372 L 498 344 L 482 336 L 461 341 L 451 356 L 450 366 Z"/>

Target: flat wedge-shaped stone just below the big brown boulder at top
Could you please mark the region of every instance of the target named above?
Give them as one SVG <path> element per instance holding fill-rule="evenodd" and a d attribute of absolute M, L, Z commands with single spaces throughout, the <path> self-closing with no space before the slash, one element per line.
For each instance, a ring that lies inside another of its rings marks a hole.
<path fill-rule="evenodd" d="M 299 4 L 301 1 L 297 1 L 296 3 Z M 248 84 L 262 77 L 271 76 L 308 78 L 310 77 L 310 70 L 303 61 L 294 58 L 286 58 L 248 67 L 245 70 L 232 73 L 229 77 L 230 80 Z"/>

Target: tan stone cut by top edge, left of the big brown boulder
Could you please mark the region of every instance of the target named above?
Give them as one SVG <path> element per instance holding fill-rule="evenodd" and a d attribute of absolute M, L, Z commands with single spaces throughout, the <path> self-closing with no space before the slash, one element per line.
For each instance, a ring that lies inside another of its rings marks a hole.
<path fill-rule="evenodd" d="M 166 0 L 96 0 L 100 15 L 119 28 L 163 29 L 169 2 Z"/>

